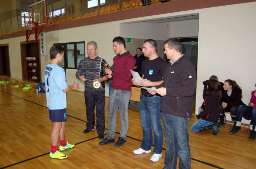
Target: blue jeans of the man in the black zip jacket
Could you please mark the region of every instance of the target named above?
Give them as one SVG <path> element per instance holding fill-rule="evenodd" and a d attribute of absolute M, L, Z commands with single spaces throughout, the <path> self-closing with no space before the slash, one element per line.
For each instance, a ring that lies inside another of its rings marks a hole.
<path fill-rule="evenodd" d="M 163 112 L 163 127 L 166 141 L 165 169 L 176 169 L 178 155 L 180 168 L 190 168 L 191 156 L 188 145 L 188 118 L 169 115 Z"/>

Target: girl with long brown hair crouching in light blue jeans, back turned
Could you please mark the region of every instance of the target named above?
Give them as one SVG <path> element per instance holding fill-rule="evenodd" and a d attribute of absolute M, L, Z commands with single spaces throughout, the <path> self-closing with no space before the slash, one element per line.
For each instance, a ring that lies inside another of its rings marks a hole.
<path fill-rule="evenodd" d="M 193 126 L 191 131 L 194 133 L 212 129 L 214 135 L 220 131 L 220 127 L 216 124 L 220 116 L 220 98 L 222 86 L 220 82 L 214 79 L 210 79 L 207 83 L 206 97 L 204 100 L 204 110 L 197 115 L 199 119 Z M 200 119 L 201 118 L 201 119 Z"/>

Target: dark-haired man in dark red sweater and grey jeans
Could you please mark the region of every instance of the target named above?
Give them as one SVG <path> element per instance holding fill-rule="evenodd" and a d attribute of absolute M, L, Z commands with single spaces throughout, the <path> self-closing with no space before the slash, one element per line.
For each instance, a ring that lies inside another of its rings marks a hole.
<path fill-rule="evenodd" d="M 136 60 L 132 54 L 125 49 L 125 41 L 122 37 L 115 37 L 113 39 L 113 48 L 117 55 L 114 58 L 114 72 L 110 69 L 105 69 L 107 77 L 113 77 L 112 89 L 109 97 L 109 131 L 108 136 L 99 143 L 105 145 L 115 142 L 116 132 L 116 115 L 119 107 L 119 114 L 121 120 L 120 136 L 115 143 L 115 147 L 120 147 L 126 142 L 126 133 L 128 130 L 128 105 L 132 94 L 132 74 L 130 69 L 134 69 Z"/>

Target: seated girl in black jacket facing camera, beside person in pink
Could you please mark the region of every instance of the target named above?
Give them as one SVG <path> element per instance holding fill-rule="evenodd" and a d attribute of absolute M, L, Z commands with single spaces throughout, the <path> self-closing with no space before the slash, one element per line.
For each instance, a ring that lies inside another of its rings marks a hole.
<path fill-rule="evenodd" d="M 234 122 L 236 121 L 238 108 L 240 105 L 245 105 L 241 100 L 242 90 L 236 81 L 230 79 L 224 81 L 223 89 L 222 98 L 220 99 L 221 113 L 219 125 L 226 124 L 225 112 L 229 111 L 233 125 L 235 125 Z"/>

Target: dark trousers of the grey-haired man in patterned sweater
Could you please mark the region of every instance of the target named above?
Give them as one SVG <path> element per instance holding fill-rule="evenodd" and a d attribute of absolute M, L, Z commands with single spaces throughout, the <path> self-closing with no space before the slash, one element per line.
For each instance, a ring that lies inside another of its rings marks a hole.
<path fill-rule="evenodd" d="M 86 100 L 86 117 L 87 128 L 94 129 L 95 115 L 94 109 L 96 105 L 96 129 L 98 134 L 104 134 L 105 131 L 105 91 L 84 91 L 84 99 Z"/>

